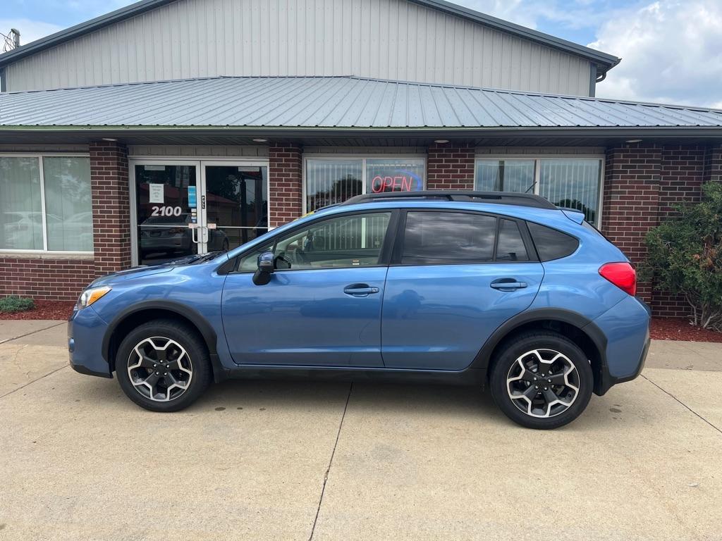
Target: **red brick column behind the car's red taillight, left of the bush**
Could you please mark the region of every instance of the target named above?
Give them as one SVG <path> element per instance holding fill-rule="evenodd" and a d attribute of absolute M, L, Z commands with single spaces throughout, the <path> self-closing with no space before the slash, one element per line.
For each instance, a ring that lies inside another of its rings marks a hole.
<path fill-rule="evenodd" d="M 645 259 L 645 234 L 658 223 L 660 170 L 657 147 L 606 150 L 601 229 L 635 264 Z M 651 302 L 651 283 L 639 283 L 638 295 Z"/>

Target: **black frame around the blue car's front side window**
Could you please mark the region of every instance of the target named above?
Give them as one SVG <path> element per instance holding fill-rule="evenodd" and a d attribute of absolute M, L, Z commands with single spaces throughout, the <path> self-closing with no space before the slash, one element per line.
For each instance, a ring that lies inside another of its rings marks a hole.
<path fill-rule="evenodd" d="M 362 216 L 364 214 L 380 214 L 380 213 L 391 213 L 391 216 L 388 219 L 388 226 L 386 226 L 386 234 L 383 236 L 383 245 L 381 245 L 381 250 L 378 256 L 378 263 L 376 265 L 349 265 L 347 267 L 328 267 L 328 268 L 277 268 L 274 269 L 274 273 L 287 273 L 287 272 L 300 272 L 300 271 L 347 271 L 349 268 L 376 268 L 376 267 L 388 267 L 389 263 L 391 261 L 391 254 L 393 252 L 393 245 L 396 242 L 396 237 L 398 234 L 398 226 L 399 226 L 399 214 L 401 213 L 399 208 L 367 208 L 364 210 L 357 210 L 357 211 L 347 211 L 347 212 L 339 212 L 338 214 L 332 214 L 331 216 L 319 216 L 317 220 L 313 221 L 307 221 L 304 224 L 299 224 L 296 227 L 293 227 L 292 229 L 287 229 L 284 232 L 274 234 L 273 237 L 271 237 L 269 242 L 272 241 L 271 251 L 276 252 L 276 246 L 278 244 L 278 241 L 281 237 L 286 237 L 287 235 L 293 235 L 297 232 L 302 231 L 303 229 L 307 229 L 310 224 L 322 224 L 324 221 L 329 221 L 331 219 L 336 218 L 342 218 L 344 216 Z M 243 252 L 240 252 L 240 254 L 236 255 L 235 258 L 233 258 L 233 264 L 231 265 L 232 268 L 228 272 L 229 274 L 253 274 L 256 271 L 238 271 L 238 262 L 241 260 L 241 258 L 244 258 L 246 255 L 250 255 L 252 252 L 258 250 L 259 247 L 264 246 L 268 244 L 268 242 L 261 242 L 256 246 L 253 246 L 249 248 L 248 250 L 244 250 Z M 227 265 L 227 263 L 223 263 L 222 266 Z"/>

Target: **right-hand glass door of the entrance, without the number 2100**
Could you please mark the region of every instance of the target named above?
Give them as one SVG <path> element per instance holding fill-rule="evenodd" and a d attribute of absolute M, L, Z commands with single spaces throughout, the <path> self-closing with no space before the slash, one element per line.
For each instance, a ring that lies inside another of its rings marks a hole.
<path fill-rule="evenodd" d="M 268 168 L 203 162 L 205 249 L 229 250 L 268 231 Z"/>

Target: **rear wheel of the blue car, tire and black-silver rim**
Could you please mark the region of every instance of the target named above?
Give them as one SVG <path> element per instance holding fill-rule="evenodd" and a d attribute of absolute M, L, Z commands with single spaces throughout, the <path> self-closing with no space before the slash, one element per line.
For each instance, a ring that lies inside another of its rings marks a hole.
<path fill-rule="evenodd" d="M 586 354 L 552 331 L 515 336 L 496 356 L 490 377 L 500 410 L 527 428 L 571 423 L 589 403 L 593 386 Z"/>

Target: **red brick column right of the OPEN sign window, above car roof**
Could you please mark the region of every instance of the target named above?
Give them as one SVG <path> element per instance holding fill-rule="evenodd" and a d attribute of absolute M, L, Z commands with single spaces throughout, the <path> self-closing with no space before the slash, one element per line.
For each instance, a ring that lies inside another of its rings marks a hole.
<path fill-rule="evenodd" d="M 474 189 L 474 146 L 434 143 L 427 152 L 427 190 Z"/>

